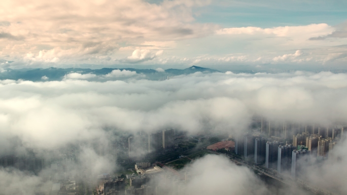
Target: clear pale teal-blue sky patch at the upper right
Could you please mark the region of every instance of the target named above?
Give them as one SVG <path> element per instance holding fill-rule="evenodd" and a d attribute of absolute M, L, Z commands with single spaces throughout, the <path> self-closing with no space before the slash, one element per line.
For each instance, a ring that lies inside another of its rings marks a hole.
<path fill-rule="evenodd" d="M 337 25 L 346 20 L 345 1 L 216 1 L 196 9 L 197 22 L 217 23 L 225 27 L 328 23 Z"/>

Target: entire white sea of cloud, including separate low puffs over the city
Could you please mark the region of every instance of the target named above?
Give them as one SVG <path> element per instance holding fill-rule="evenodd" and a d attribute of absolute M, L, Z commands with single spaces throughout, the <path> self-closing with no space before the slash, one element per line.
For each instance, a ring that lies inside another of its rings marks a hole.
<path fill-rule="evenodd" d="M 108 140 L 113 131 L 150 133 L 176 128 L 191 134 L 200 131 L 236 133 L 248 130 L 255 115 L 274 121 L 322 126 L 343 125 L 347 121 L 347 74 L 343 73 L 196 72 L 165 81 L 146 80 L 131 72 L 113 74 L 126 75 L 128 79 L 105 81 L 106 75 L 70 73 L 62 81 L 0 81 L 1 154 L 13 151 L 13 139 L 21 144 L 17 150 L 43 151 L 95 139 Z M 82 152 L 78 154 L 74 170 L 88 170 L 88 175 L 95 176 L 119 168 L 114 160 L 96 158 L 95 151 L 85 145 L 80 147 Z M 339 163 L 332 167 L 324 165 L 316 171 L 310 169 L 323 178 L 337 177 L 339 180 L 334 182 L 340 187 L 339 191 L 345 191 L 341 183 L 345 177 L 332 173 L 347 173 L 343 166 L 347 161 L 344 148 L 341 144 Z M 235 194 L 257 194 L 255 189 L 261 190 L 260 194 L 268 194 L 269 189 L 261 187 L 261 181 L 246 168 L 219 158 L 206 157 L 192 166 L 192 172 L 199 172 L 189 185 L 192 193 L 211 194 L 212 189 L 218 188 L 222 194 L 230 190 Z M 8 179 L 0 182 L 0 188 L 18 178 L 43 185 L 38 176 L 13 173 L 1 170 L 2 178 Z M 315 175 L 307 177 L 315 178 Z M 212 188 L 197 187 L 198 183 L 211 182 L 211 178 L 220 181 L 210 185 Z M 315 181 L 320 184 L 327 180 Z M 30 182 L 28 185 L 35 186 Z M 231 183 L 236 184 L 229 186 Z M 257 187 L 249 188 L 252 185 Z"/>

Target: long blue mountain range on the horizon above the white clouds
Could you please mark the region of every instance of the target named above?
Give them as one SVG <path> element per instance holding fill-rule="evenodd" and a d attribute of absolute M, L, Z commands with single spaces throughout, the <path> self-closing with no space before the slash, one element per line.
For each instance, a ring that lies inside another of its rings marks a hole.
<path fill-rule="evenodd" d="M 199 66 L 191 66 L 186 69 L 166 69 L 164 72 L 158 72 L 153 69 L 135 69 L 135 68 L 101 68 L 101 69 L 89 69 L 89 68 L 37 68 L 37 69 L 6 69 L 7 71 L 0 73 L 0 80 L 27 80 L 27 81 L 42 81 L 43 76 L 47 76 L 47 81 L 61 81 L 64 75 L 71 72 L 78 72 L 81 74 L 96 74 L 105 75 L 112 70 L 129 70 L 135 71 L 137 74 L 145 74 L 146 79 L 149 80 L 163 80 L 167 76 L 176 76 L 181 74 L 191 74 L 195 72 L 213 73 L 220 72 L 218 70 L 203 68 Z"/>

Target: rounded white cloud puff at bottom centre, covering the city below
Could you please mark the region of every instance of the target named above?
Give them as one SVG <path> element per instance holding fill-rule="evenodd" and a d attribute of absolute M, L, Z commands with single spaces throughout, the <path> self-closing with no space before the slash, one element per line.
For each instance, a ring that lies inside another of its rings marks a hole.
<path fill-rule="evenodd" d="M 218 155 L 206 155 L 186 170 L 191 194 L 269 194 L 265 184 L 250 169 L 239 167 Z M 252 183 L 252 185 L 250 185 Z"/>

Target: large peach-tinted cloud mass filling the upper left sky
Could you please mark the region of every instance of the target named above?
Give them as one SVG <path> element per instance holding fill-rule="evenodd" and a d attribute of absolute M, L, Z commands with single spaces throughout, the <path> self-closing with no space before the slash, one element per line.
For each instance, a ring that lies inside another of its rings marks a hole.
<path fill-rule="evenodd" d="M 22 63 L 99 64 L 110 57 L 124 58 L 117 52 L 123 43 L 125 47 L 150 44 L 149 49 L 167 49 L 177 40 L 213 34 L 217 25 L 197 23 L 193 15 L 194 8 L 209 4 L 203 0 L 158 4 L 143 0 L 16 0 L 2 5 L 0 39 L 7 46 L 2 54 Z M 24 37 L 28 49 L 14 53 L 11 48 L 23 44 Z M 30 53 L 34 55 L 28 58 Z"/>

